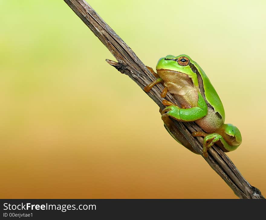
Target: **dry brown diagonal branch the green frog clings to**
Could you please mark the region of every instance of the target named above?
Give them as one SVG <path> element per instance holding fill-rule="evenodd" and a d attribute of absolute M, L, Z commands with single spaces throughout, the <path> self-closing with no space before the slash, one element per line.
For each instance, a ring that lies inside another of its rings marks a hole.
<path fill-rule="evenodd" d="M 104 20 L 94 11 L 85 0 L 64 0 L 67 5 L 83 20 L 89 29 L 99 38 L 107 47 L 118 62 L 106 59 L 106 61 L 115 67 L 118 71 L 128 75 L 143 90 L 144 86 L 154 80 L 154 76 L 140 61 L 130 47 L 105 23 Z M 146 93 L 156 104 L 163 109 L 160 93 L 163 89 L 161 84 L 154 86 L 151 92 Z M 167 94 L 167 100 L 177 104 L 176 100 L 170 94 Z M 202 131 L 195 123 L 179 122 L 173 120 L 178 129 L 187 138 L 193 149 L 202 155 L 202 137 L 194 138 L 191 136 L 193 131 Z M 243 199 L 264 199 L 260 190 L 251 186 L 241 175 L 238 169 L 228 156 L 217 146 L 213 146 L 208 151 L 208 158 L 204 158 L 207 163 L 219 174 L 219 176 L 229 185 L 234 193 Z"/>

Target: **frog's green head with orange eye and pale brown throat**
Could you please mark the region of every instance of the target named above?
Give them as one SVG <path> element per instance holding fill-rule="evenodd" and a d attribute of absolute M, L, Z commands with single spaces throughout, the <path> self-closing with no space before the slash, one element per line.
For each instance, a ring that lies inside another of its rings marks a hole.
<path fill-rule="evenodd" d="M 166 57 L 159 59 L 156 65 L 156 71 L 165 83 L 187 83 L 198 86 L 195 65 L 197 66 L 188 55 L 167 55 Z"/>

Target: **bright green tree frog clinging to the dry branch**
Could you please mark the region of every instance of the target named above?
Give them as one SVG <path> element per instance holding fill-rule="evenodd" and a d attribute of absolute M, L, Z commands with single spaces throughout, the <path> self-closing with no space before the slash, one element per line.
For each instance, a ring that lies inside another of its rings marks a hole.
<path fill-rule="evenodd" d="M 187 55 L 167 55 L 159 59 L 156 71 L 148 67 L 156 80 L 144 87 L 146 92 L 157 83 L 164 83 L 161 96 L 171 93 L 180 106 L 163 100 L 167 106 L 161 111 L 164 127 L 174 139 L 187 149 L 197 153 L 169 117 L 178 121 L 195 121 L 206 133 L 193 132 L 192 136 L 203 136 L 203 156 L 216 143 L 224 152 L 233 151 L 242 142 L 241 133 L 232 124 L 224 124 L 225 111 L 222 102 L 202 68 Z"/>

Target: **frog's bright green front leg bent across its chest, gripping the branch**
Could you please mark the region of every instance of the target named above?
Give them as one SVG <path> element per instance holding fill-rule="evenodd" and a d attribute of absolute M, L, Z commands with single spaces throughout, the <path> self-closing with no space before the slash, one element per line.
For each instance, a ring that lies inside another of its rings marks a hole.
<path fill-rule="evenodd" d="M 196 121 L 208 113 L 208 108 L 202 95 L 199 93 L 198 104 L 192 108 L 179 108 L 176 105 L 170 105 L 161 112 L 162 118 L 172 117 L 178 121 Z"/>

